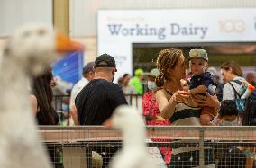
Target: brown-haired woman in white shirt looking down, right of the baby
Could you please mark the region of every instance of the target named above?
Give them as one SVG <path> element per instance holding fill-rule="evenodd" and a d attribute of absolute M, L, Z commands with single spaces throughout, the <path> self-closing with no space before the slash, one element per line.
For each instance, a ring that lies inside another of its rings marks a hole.
<path fill-rule="evenodd" d="M 242 69 L 235 61 L 227 61 L 221 66 L 221 74 L 225 83 L 223 90 L 223 101 L 234 100 L 235 91 L 233 88 L 238 92 L 242 81 L 245 81 L 245 79 L 242 77 Z M 238 82 L 240 82 L 240 84 Z"/>

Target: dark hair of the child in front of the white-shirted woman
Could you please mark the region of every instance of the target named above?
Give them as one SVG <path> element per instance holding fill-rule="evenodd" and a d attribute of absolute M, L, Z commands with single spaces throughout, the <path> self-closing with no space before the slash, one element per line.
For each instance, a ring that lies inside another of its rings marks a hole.
<path fill-rule="evenodd" d="M 221 109 L 219 111 L 220 117 L 237 116 L 238 110 L 233 100 L 224 100 L 221 102 Z"/>

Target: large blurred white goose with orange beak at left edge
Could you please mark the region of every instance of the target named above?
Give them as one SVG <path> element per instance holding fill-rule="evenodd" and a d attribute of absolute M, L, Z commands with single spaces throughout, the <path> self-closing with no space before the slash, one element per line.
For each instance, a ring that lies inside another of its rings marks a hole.
<path fill-rule="evenodd" d="M 37 133 L 27 81 L 58 58 L 57 50 L 77 49 L 78 43 L 38 24 L 14 31 L 7 40 L 0 62 L 1 168 L 51 167 Z"/>

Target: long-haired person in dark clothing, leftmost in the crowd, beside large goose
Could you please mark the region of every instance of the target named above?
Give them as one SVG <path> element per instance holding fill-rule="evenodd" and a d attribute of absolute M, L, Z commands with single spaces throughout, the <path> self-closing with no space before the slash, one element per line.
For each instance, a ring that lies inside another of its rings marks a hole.
<path fill-rule="evenodd" d="M 32 79 L 32 110 L 35 113 L 39 125 L 56 125 L 59 123 L 59 116 L 53 109 L 51 81 L 53 75 L 51 70 L 47 70 L 43 75 Z"/>

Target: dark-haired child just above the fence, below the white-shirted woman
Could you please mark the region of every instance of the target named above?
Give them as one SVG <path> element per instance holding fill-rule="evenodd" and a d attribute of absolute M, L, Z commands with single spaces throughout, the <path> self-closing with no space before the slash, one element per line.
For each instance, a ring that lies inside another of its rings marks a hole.
<path fill-rule="evenodd" d="M 235 102 L 232 100 L 225 100 L 221 102 L 221 109 L 218 116 L 219 126 L 237 126 L 238 125 L 238 110 Z"/>

